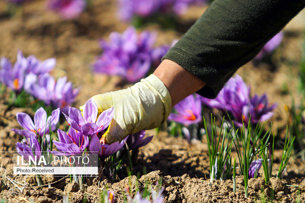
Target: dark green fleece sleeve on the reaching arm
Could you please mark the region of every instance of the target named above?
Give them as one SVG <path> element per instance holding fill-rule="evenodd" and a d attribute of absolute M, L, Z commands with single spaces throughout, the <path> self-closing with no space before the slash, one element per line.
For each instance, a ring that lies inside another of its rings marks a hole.
<path fill-rule="evenodd" d="M 196 75 L 207 84 L 197 93 L 215 98 L 304 6 L 303 0 L 216 0 L 163 59 Z"/>

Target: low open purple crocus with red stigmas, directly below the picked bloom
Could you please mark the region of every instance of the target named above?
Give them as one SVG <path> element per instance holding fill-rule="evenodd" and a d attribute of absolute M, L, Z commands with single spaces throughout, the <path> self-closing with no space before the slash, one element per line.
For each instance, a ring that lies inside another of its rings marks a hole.
<path fill-rule="evenodd" d="M 53 152 L 57 155 L 79 154 L 89 146 L 89 137 L 72 127 L 69 129 L 68 134 L 61 129 L 57 130 L 57 134 L 59 141 L 53 141 L 57 150 L 61 152 Z"/>

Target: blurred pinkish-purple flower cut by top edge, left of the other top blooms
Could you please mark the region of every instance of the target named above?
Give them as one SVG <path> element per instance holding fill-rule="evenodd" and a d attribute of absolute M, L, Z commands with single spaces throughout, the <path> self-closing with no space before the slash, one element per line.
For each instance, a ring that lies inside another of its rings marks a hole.
<path fill-rule="evenodd" d="M 78 17 L 86 8 L 85 0 L 49 0 L 48 8 L 65 19 Z"/>

